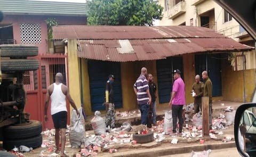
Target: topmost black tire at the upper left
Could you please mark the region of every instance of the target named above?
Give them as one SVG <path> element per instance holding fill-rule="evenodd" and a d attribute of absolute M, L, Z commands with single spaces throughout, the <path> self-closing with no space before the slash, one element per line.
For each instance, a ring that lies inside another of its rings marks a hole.
<path fill-rule="evenodd" d="M 37 56 L 38 47 L 35 45 L 0 45 L 1 57 L 11 57 L 13 59 L 26 59 L 27 57 Z"/>

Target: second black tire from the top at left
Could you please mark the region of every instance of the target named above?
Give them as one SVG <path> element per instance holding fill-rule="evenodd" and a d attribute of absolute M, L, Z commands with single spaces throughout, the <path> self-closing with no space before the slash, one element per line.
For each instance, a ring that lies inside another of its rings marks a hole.
<path fill-rule="evenodd" d="M 2 72 L 34 71 L 38 68 L 38 60 L 1 60 Z"/>

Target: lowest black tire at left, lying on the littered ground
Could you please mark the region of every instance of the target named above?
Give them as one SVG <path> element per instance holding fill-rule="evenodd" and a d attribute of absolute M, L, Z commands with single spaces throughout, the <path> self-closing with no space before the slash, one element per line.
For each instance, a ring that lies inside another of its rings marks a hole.
<path fill-rule="evenodd" d="M 4 139 L 3 147 L 7 151 L 12 150 L 14 146 L 19 147 L 21 145 L 37 148 L 42 145 L 42 142 L 43 142 L 42 135 L 38 135 L 31 138 L 25 138 L 25 139 Z"/>

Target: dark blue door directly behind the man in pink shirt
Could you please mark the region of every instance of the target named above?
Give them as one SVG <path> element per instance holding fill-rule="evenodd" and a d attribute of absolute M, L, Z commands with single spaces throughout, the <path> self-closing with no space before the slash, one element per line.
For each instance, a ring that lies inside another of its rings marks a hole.
<path fill-rule="evenodd" d="M 156 65 L 159 103 L 167 103 L 171 98 L 174 81 L 172 71 L 179 69 L 182 72 L 181 78 L 183 79 L 182 57 L 168 57 L 164 60 L 157 60 Z"/>

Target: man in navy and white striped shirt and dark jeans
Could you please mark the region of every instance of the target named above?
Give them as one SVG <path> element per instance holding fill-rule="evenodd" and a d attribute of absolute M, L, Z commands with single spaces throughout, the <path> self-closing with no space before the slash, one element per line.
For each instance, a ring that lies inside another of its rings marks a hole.
<path fill-rule="evenodd" d="M 140 114 L 141 114 L 141 124 L 147 125 L 148 119 L 148 109 L 151 104 L 151 96 L 149 93 L 148 80 L 147 77 L 147 69 L 141 69 L 141 75 L 135 82 L 133 89 L 135 94 L 137 95 L 137 102 L 139 104 Z"/>

